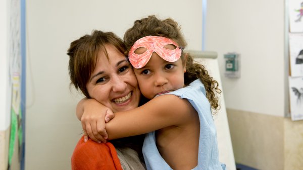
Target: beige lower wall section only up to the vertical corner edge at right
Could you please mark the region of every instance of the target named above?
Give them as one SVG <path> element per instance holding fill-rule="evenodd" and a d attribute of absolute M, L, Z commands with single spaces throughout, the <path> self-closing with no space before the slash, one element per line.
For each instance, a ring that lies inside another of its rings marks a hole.
<path fill-rule="evenodd" d="M 235 161 L 258 169 L 283 169 L 282 117 L 227 109 Z"/>

